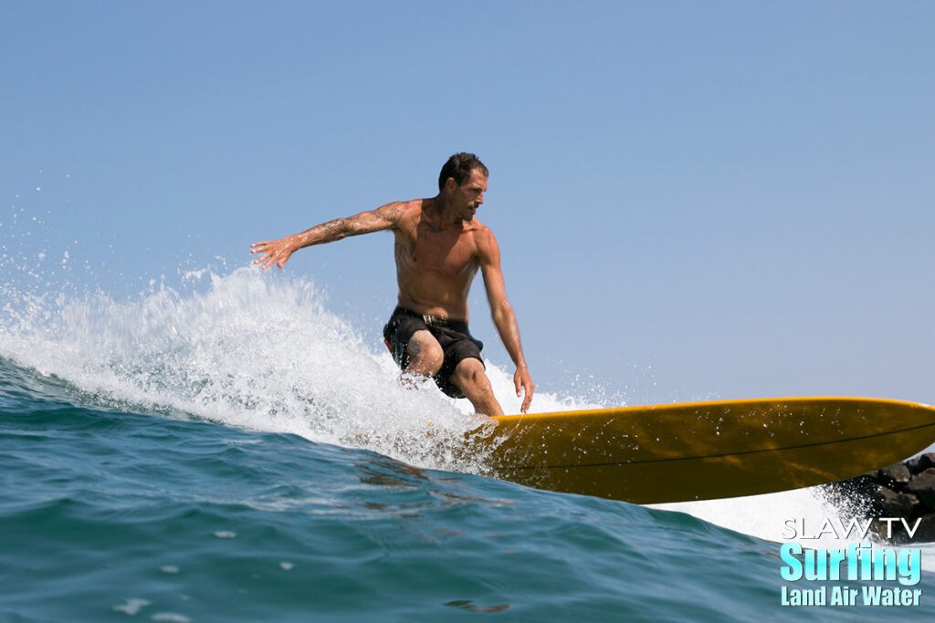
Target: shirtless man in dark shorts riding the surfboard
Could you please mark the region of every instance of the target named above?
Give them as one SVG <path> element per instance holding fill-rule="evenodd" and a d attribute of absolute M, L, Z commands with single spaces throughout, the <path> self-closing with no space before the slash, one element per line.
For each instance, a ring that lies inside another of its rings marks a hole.
<path fill-rule="evenodd" d="M 261 254 L 253 263 L 282 268 L 299 248 L 392 230 L 399 295 L 383 337 L 393 359 L 405 372 L 432 376 L 449 396 L 468 398 L 477 413 L 501 416 L 503 409 L 484 372 L 483 345 L 468 332 L 468 292 L 480 268 L 496 330 L 516 364 L 516 396 L 525 391 L 525 413 L 536 386 L 507 301 L 500 248 L 494 233 L 474 219 L 483 204 L 487 175 L 474 154 L 454 154 L 441 167 L 437 196 L 394 202 L 281 240 L 253 243 L 251 252 Z"/>

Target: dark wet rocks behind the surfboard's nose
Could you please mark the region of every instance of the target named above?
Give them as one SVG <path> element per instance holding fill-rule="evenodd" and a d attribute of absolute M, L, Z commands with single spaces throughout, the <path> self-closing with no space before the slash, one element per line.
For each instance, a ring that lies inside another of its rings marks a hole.
<path fill-rule="evenodd" d="M 935 541 L 935 453 L 831 483 L 824 491 L 853 517 L 902 517 L 910 525 L 919 520 L 913 542 Z"/>

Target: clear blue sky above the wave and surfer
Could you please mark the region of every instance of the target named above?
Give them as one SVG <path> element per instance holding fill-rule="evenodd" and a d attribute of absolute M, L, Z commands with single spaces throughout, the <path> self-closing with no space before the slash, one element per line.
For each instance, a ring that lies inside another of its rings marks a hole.
<path fill-rule="evenodd" d="M 935 3 L 0 15 L 0 240 L 22 247 L 38 215 L 48 256 L 81 257 L 105 290 L 431 196 L 468 150 L 491 170 L 478 218 L 540 388 L 935 403 Z M 392 258 L 372 234 L 286 270 L 376 343 Z M 480 278 L 472 311 L 508 362 Z"/>

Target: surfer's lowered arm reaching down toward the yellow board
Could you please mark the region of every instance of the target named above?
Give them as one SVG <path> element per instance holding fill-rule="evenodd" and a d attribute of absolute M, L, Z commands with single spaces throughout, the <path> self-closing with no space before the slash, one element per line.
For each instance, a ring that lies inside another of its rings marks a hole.
<path fill-rule="evenodd" d="M 479 238 L 478 256 L 481 260 L 481 274 L 484 288 L 487 290 L 490 313 L 494 318 L 496 331 L 500 333 L 500 339 L 503 340 L 503 346 L 507 348 L 513 363 L 516 364 L 513 385 L 516 387 L 517 397 L 522 395 L 521 390 L 525 390 L 523 406 L 520 407 L 520 410 L 525 413 L 532 402 L 532 392 L 536 384 L 532 382 L 529 369 L 526 367 L 516 314 L 513 312 L 510 301 L 507 300 L 506 284 L 503 280 L 503 271 L 500 269 L 500 248 L 496 244 L 496 237 L 487 230 Z"/>

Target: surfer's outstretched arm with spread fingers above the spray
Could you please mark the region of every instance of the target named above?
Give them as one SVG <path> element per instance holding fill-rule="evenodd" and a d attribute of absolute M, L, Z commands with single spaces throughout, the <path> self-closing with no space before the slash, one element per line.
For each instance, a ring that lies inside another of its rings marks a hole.
<path fill-rule="evenodd" d="M 315 225 L 301 234 L 287 235 L 279 240 L 254 242 L 250 252 L 260 253 L 254 264 L 263 264 L 266 270 L 273 264 L 280 268 L 289 261 L 292 254 L 300 248 L 312 245 L 324 245 L 351 235 L 369 234 L 396 227 L 399 219 L 406 211 L 407 203 L 395 202 L 382 205 L 375 210 L 368 210 L 345 219 L 329 220 L 321 225 Z"/>

